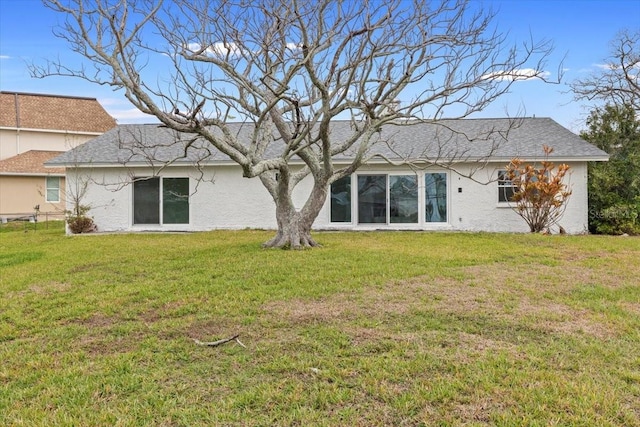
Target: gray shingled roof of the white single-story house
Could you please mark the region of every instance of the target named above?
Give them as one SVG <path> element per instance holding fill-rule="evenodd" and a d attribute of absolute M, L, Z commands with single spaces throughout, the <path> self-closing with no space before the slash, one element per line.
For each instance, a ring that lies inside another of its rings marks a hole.
<path fill-rule="evenodd" d="M 253 125 L 230 123 L 229 129 L 239 141 L 250 141 Z M 334 121 L 331 137 L 344 141 L 352 134 L 352 122 Z M 219 130 L 214 132 L 221 136 Z M 514 157 L 535 160 L 543 157 L 543 145 L 554 149 L 552 160 L 607 160 L 608 155 L 584 141 L 550 118 L 457 119 L 416 122 L 411 125 L 390 123 L 375 135 L 380 141 L 369 151 L 383 158 L 423 161 L 504 161 Z M 189 144 L 189 149 L 185 147 Z M 267 157 L 277 157 L 282 145 L 273 142 Z M 357 149 L 357 145 L 352 148 Z M 335 158 L 348 161 L 351 153 Z M 47 162 L 48 166 L 91 164 L 148 164 L 149 159 L 174 164 L 224 163 L 230 159 L 202 138 L 178 134 L 158 124 L 119 125 L 85 144 Z M 372 159 L 375 161 L 375 158 Z"/>

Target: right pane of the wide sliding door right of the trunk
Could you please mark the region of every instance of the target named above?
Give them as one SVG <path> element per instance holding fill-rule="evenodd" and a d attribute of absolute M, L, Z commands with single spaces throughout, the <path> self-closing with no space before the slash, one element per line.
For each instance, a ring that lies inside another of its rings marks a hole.
<path fill-rule="evenodd" d="M 389 177 L 389 219 L 392 223 L 418 222 L 418 177 Z"/>

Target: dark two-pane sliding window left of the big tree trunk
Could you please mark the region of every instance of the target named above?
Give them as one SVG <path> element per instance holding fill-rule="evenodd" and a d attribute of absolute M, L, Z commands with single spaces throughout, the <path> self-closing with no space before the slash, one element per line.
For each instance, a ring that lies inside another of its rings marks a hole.
<path fill-rule="evenodd" d="M 133 183 L 134 224 L 188 224 L 189 178 L 137 178 Z"/>

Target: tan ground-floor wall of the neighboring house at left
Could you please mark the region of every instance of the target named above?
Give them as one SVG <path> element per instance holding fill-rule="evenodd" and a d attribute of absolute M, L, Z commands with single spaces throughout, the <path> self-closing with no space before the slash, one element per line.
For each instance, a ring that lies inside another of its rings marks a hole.
<path fill-rule="evenodd" d="M 41 213 L 64 212 L 64 178 L 60 177 L 60 201 L 57 203 L 45 202 L 45 186 L 44 176 L 0 176 L 0 216 L 31 214 L 36 205 L 40 205 Z"/>

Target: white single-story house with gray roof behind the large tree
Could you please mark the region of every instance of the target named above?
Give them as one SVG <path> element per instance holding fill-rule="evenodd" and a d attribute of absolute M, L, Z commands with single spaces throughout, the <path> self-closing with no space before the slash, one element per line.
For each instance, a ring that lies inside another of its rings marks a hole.
<path fill-rule="evenodd" d="M 250 125 L 230 126 L 248 140 Z M 351 126 L 332 123 L 334 140 L 346 138 Z M 501 171 L 514 157 L 540 160 L 547 145 L 554 148 L 550 159 L 572 170 L 573 194 L 561 225 L 568 233 L 583 233 L 587 162 L 608 159 L 549 118 L 523 118 L 515 126 L 510 119 L 390 124 L 380 132 L 386 142 L 370 153 L 377 156 L 333 183 L 314 229 L 528 231 L 510 209 L 513 188 Z M 157 124 L 121 125 L 47 166 L 73 166 L 67 169 L 69 181 L 89 183 L 83 204 L 91 206 L 100 231 L 276 228 L 274 202 L 259 179 L 243 178 L 238 165 L 201 140 L 179 158 L 191 137 Z M 444 166 L 405 162 L 427 158 Z M 345 153 L 335 163 L 349 159 Z M 311 185 L 307 177 L 294 190 L 298 207 Z"/>

